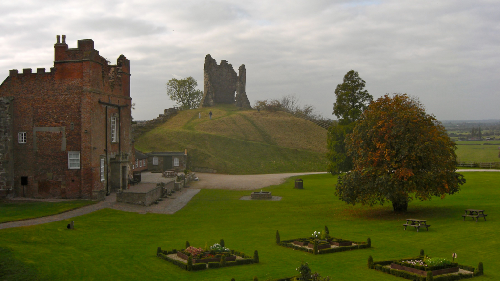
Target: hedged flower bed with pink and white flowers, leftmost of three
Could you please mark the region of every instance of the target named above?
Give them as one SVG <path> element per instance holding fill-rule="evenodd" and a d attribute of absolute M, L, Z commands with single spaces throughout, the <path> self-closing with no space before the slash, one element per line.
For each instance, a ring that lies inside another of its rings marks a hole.
<path fill-rule="evenodd" d="M 206 268 L 253 264 L 254 262 L 258 262 L 258 258 L 256 260 L 253 256 L 246 255 L 243 252 L 236 250 L 220 247 L 220 245 L 218 246 L 218 248 L 212 248 L 210 251 L 204 251 L 202 248 L 192 246 L 182 250 L 161 250 L 161 248 L 158 247 L 156 256 L 165 259 L 184 270 L 202 270 Z M 222 255 L 225 256 L 224 264 L 221 262 Z M 192 261 L 191 266 L 188 265 L 189 257 L 191 257 Z"/>

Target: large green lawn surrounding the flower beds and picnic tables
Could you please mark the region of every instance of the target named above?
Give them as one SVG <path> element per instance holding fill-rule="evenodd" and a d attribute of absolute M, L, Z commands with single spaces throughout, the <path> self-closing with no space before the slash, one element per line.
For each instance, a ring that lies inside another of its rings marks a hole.
<path fill-rule="evenodd" d="M 0 247 L 9 248 L 42 280 L 259 280 L 290 276 L 301 260 L 313 271 L 333 280 L 404 280 L 369 270 L 366 259 L 414 256 L 421 248 L 431 256 L 450 257 L 461 264 L 484 262 L 485 275 L 474 280 L 500 279 L 499 173 L 466 172 L 467 183 L 444 199 L 414 201 L 407 214 L 393 214 L 390 207 L 345 205 L 334 196 L 335 178 L 329 174 L 303 176 L 303 190 L 293 189 L 293 179 L 264 188 L 280 201 L 238 200 L 249 191 L 203 189 L 173 215 L 137 214 L 102 209 L 68 221 L 0 230 Z M 462 221 L 466 208 L 484 208 L 487 221 Z M 403 230 L 405 217 L 425 218 L 429 231 Z M 329 228 L 330 235 L 363 241 L 372 248 L 312 255 L 275 245 L 282 239 L 306 236 Z M 260 263 L 202 271 L 183 271 L 155 257 L 156 247 L 182 248 L 185 240 L 204 246 L 224 238 L 229 248 L 247 254 L 258 250 Z"/>

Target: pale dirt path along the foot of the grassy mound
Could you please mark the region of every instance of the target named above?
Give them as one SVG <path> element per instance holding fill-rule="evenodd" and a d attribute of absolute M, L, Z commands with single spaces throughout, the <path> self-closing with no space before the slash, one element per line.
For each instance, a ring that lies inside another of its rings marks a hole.
<path fill-rule="evenodd" d="M 294 172 L 294 173 L 268 173 L 268 174 L 219 174 L 196 172 L 199 181 L 191 181 L 191 188 L 196 189 L 236 189 L 252 190 L 277 185 L 284 182 L 287 177 L 326 172 Z"/>

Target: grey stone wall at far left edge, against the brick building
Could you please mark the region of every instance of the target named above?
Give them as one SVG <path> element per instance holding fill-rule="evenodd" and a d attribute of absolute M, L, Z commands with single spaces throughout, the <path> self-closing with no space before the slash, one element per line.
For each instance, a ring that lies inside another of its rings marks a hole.
<path fill-rule="evenodd" d="M 0 198 L 11 193 L 12 182 L 12 100 L 0 97 Z"/>

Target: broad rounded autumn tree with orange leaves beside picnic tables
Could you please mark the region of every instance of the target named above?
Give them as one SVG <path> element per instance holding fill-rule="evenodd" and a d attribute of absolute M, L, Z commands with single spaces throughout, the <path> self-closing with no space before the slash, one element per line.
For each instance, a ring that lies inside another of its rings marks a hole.
<path fill-rule="evenodd" d="M 406 211 L 412 199 L 444 198 L 465 183 L 455 172 L 456 146 L 415 97 L 386 94 L 371 103 L 346 137 L 353 167 L 338 177 L 336 195 L 349 204 L 392 202 Z"/>

